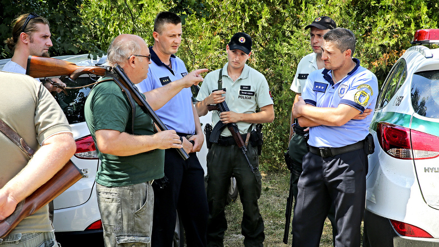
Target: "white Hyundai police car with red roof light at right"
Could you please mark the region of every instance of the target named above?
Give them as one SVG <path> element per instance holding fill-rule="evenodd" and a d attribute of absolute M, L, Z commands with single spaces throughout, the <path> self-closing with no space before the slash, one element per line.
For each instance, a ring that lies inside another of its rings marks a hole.
<path fill-rule="evenodd" d="M 418 30 L 412 41 L 431 43 L 439 29 Z M 363 246 L 439 246 L 439 49 L 407 49 L 375 110 Z"/>

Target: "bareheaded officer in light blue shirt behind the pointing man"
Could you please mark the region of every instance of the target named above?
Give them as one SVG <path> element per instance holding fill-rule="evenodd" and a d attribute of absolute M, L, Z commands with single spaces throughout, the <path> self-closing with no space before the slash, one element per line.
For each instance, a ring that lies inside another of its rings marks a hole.
<path fill-rule="evenodd" d="M 160 12 L 154 20 L 154 45 L 149 47 L 151 65 L 148 77 L 140 82 L 140 92 L 149 93 L 156 88 L 183 78 L 187 69 L 176 57 L 181 43 L 181 19 L 171 12 Z M 177 209 L 186 233 L 187 246 L 206 246 L 208 217 L 204 188 L 204 170 L 196 152 L 204 142 L 200 119 L 192 104 L 192 91 L 184 88 L 168 103 L 156 111 L 169 129 L 183 140 L 189 159 L 183 160 L 175 149 L 165 150 L 164 183 L 154 183 L 153 247 L 171 247 L 176 226 Z M 182 233 L 182 230 L 180 230 Z"/>

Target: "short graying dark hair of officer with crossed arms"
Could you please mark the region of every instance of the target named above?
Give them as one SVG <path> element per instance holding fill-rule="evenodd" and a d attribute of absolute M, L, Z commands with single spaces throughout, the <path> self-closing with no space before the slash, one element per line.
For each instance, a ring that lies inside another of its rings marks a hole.
<path fill-rule="evenodd" d="M 325 41 L 333 42 L 339 48 L 341 52 L 351 49 L 351 57 L 355 52 L 355 35 L 351 30 L 346 28 L 337 27 L 335 29 L 329 30 L 324 36 Z"/>

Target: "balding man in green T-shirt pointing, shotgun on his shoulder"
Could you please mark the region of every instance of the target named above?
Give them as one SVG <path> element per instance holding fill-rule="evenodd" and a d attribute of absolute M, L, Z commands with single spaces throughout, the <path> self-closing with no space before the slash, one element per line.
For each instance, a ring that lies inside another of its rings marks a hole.
<path fill-rule="evenodd" d="M 134 84 L 147 77 L 150 58 L 145 41 L 131 34 L 116 37 L 107 51 L 109 65 L 120 65 Z M 200 73 L 206 71 L 192 71 L 149 91 L 144 94 L 146 101 L 157 110 L 181 89 L 201 82 Z M 131 105 L 125 90 L 113 79 L 102 81 L 87 98 L 85 120 L 102 161 L 96 190 L 105 246 L 150 246 L 154 205 L 151 183 L 164 176 L 163 149 L 181 148 L 182 140 L 175 130 L 156 133 L 151 117 L 139 104 Z"/>

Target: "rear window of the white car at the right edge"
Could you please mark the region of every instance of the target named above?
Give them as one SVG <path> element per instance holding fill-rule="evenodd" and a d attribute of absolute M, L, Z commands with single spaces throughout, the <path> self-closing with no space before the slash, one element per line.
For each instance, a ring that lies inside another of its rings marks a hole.
<path fill-rule="evenodd" d="M 411 97 L 416 113 L 428 118 L 439 118 L 439 70 L 415 73 Z"/>

